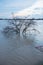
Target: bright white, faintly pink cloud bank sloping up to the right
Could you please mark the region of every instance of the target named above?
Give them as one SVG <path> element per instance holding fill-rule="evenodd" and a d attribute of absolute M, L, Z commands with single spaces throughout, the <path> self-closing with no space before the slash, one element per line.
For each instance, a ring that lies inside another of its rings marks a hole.
<path fill-rule="evenodd" d="M 36 9 L 38 8 L 38 9 L 35 10 L 35 8 Z M 14 14 L 14 16 L 27 16 L 27 15 L 32 15 L 32 14 L 42 14 L 43 11 L 41 8 L 43 8 L 43 0 L 37 0 L 31 7 L 17 12 L 16 14 Z"/>

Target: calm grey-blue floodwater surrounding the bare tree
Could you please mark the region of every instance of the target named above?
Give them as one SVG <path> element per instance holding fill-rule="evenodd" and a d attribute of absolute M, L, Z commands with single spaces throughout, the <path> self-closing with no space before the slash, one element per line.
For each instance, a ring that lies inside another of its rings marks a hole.
<path fill-rule="evenodd" d="M 6 20 L 0 20 L 0 65 L 43 65 L 43 21 L 37 21 L 40 34 L 23 38 L 4 34 L 7 25 Z"/>

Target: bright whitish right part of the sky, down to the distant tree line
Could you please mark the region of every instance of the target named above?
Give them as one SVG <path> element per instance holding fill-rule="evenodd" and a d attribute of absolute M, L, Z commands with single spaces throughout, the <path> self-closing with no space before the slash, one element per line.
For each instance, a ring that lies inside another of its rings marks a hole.
<path fill-rule="evenodd" d="M 19 17 L 43 17 L 43 0 L 35 1 L 31 6 L 22 9 L 14 14 L 14 16 Z"/>

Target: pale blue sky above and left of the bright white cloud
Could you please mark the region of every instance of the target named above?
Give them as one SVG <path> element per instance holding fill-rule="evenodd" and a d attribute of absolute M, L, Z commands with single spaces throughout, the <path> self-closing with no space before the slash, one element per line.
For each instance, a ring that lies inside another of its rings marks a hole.
<path fill-rule="evenodd" d="M 0 18 L 9 18 L 16 13 L 32 6 L 37 0 L 0 0 Z"/>

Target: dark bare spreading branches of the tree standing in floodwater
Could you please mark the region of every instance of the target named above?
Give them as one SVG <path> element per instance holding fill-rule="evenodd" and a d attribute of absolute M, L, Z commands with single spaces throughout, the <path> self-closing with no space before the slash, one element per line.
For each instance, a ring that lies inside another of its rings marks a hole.
<path fill-rule="evenodd" d="M 23 34 L 23 33 L 26 33 L 26 31 L 29 27 L 32 27 L 32 26 L 34 27 L 34 25 L 36 25 L 36 22 L 33 20 L 22 20 L 22 19 L 21 20 L 16 20 L 16 19 L 8 20 L 8 23 L 10 23 L 10 25 L 6 26 L 3 30 L 4 33 L 6 33 L 6 34 L 8 34 L 10 32 L 11 33 L 16 32 L 16 34 L 18 34 L 18 33 L 20 34 L 21 28 L 25 25 L 25 28 L 23 29 L 23 31 L 21 31 Z M 32 30 L 37 31 L 39 33 L 39 31 L 35 28 L 33 28 Z"/>

